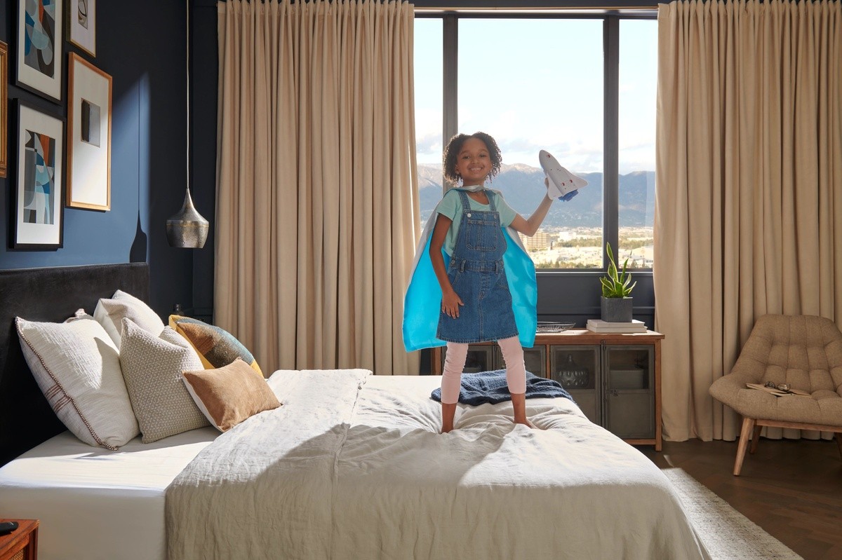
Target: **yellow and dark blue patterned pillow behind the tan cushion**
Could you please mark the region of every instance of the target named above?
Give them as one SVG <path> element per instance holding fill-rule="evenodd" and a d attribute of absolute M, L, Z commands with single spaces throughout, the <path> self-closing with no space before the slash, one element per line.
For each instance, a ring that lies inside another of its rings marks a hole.
<path fill-rule="evenodd" d="M 228 331 L 182 315 L 170 315 L 169 325 L 199 352 L 205 369 L 227 366 L 237 358 L 242 358 L 243 362 L 263 376 L 252 353 Z"/>

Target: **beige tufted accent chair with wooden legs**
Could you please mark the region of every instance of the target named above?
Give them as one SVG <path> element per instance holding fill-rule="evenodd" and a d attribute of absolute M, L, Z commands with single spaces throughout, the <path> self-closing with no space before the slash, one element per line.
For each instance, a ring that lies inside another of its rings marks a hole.
<path fill-rule="evenodd" d="M 746 387 L 769 381 L 810 395 L 777 397 Z M 842 332 L 824 317 L 763 315 L 731 372 L 711 385 L 710 394 L 743 416 L 734 476 L 743 468 L 749 438 L 754 453 L 765 425 L 835 432 L 842 454 Z"/>

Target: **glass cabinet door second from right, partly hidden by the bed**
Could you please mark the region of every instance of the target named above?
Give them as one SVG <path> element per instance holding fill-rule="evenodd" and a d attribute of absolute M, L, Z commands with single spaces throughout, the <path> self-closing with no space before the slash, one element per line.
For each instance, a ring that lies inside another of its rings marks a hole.
<path fill-rule="evenodd" d="M 567 389 L 588 420 L 602 424 L 599 346 L 550 346 L 550 378 Z"/>

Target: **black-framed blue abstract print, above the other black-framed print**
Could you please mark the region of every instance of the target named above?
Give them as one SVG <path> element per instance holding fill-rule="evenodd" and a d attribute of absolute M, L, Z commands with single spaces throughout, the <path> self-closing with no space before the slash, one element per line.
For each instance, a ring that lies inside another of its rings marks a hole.
<path fill-rule="evenodd" d="M 63 0 L 13 0 L 18 3 L 18 52 L 15 83 L 61 103 L 61 3 Z"/>

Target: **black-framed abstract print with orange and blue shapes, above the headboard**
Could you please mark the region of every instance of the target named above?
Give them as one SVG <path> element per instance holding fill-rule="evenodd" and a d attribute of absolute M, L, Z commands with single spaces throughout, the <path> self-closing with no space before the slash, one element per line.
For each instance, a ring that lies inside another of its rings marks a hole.
<path fill-rule="evenodd" d="M 14 249 L 61 247 L 64 122 L 28 103 L 16 103 L 17 177 L 13 191 Z"/>

